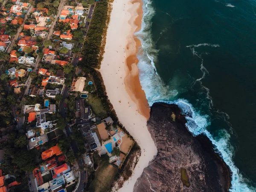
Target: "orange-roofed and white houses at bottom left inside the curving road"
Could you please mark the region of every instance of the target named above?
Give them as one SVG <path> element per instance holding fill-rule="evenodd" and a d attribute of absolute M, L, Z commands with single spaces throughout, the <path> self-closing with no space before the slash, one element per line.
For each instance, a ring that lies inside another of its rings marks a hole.
<path fill-rule="evenodd" d="M 66 163 L 58 144 L 43 151 L 41 157 L 44 163 L 33 171 L 38 191 L 64 192 L 65 187 L 75 183 L 76 173 Z"/>

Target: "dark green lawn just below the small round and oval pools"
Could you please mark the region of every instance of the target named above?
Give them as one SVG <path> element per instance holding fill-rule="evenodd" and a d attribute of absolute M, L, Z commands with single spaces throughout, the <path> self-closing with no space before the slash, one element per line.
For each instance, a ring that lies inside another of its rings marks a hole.
<path fill-rule="evenodd" d="M 102 119 L 105 119 L 106 117 L 108 117 L 108 113 L 105 110 L 104 106 L 102 105 L 100 98 L 98 98 L 97 96 L 88 94 L 88 98 L 86 99 L 86 102 L 88 105 L 92 107 L 92 110 L 96 114 L 96 116 L 99 116 Z"/>

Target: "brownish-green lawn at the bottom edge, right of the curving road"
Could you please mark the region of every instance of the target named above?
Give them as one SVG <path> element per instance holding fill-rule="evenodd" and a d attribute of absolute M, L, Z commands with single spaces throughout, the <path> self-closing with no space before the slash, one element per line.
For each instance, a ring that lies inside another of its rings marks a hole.
<path fill-rule="evenodd" d="M 95 179 L 89 187 L 90 192 L 106 192 L 111 186 L 118 169 L 110 163 L 102 163 L 95 174 Z"/>

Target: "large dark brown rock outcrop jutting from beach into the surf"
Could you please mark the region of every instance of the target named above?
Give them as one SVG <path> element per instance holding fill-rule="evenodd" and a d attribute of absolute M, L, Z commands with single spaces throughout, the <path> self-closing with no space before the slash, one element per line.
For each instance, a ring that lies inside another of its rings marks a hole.
<path fill-rule="evenodd" d="M 134 185 L 134 192 L 227 192 L 230 170 L 210 140 L 193 137 L 177 105 L 155 103 L 148 119 L 158 153 Z"/>

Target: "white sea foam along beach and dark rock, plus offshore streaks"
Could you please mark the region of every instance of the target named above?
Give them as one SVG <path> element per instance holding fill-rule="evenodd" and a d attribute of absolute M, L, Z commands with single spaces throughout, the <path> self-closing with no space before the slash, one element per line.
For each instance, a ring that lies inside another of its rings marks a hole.
<path fill-rule="evenodd" d="M 150 0 L 143 0 L 143 12 L 142 28 L 140 32 L 135 33 L 135 35 L 137 35 L 142 43 L 142 50 L 140 50 L 140 54 L 138 54 L 138 67 L 140 70 L 140 82 L 143 90 L 145 91 L 149 105 L 153 105 L 154 102 L 166 102 L 178 105 L 182 113 L 186 115 L 186 126 L 189 131 L 194 136 L 197 136 L 198 134 L 205 134 L 212 141 L 213 145 L 215 145 L 216 151 L 219 152 L 225 163 L 227 163 L 227 166 L 229 166 L 233 173 L 230 191 L 255 191 L 255 189 L 251 189 L 247 186 L 244 178 L 239 173 L 239 169 L 233 162 L 234 151 L 229 141 L 230 134 L 228 134 L 227 131 L 222 130 L 220 131 L 222 137 L 219 137 L 220 139 L 214 138 L 209 131 L 207 131 L 207 126 L 209 126 L 211 122 L 210 117 L 202 115 L 200 112 L 196 111 L 185 99 L 175 100 L 175 96 L 178 94 L 177 90 L 172 90 L 169 86 L 164 85 L 160 76 L 157 75 L 155 63 L 157 63 L 158 50 L 155 49 L 155 44 L 151 37 L 151 18 L 154 16 L 155 11 L 151 6 Z M 200 46 L 219 47 L 218 44 L 198 44 L 189 45 L 187 47 L 192 49 L 192 53 L 194 55 L 197 54 L 198 56 L 198 53 L 195 51 L 195 47 Z M 202 64 L 201 70 L 203 72 L 203 76 L 204 74 L 209 73 Z M 207 87 L 205 88 L 207 89 Z M 207 93 L 209 93 L 209 90 L 207 90 Z M 209 96 L 209 94 L 207 96 Z M 211 99 L 210 96 L 209 99 Z"/>

